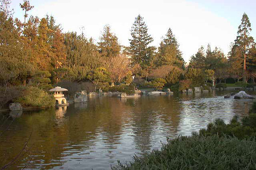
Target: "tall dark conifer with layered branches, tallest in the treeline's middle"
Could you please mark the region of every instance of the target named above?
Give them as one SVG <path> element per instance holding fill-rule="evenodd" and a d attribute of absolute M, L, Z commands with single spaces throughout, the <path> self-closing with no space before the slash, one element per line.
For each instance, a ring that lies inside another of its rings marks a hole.
<path fill-rule="evenodd" d="M 140 64 L 144 69 L 150 65 L 155 48 L 149 46 L 153 42 L 153 38 L 148 34 L 148 28 L 141 15 L 135 18 L 131 36 L 129 52 L 132 55 L 133 64 Z"/>

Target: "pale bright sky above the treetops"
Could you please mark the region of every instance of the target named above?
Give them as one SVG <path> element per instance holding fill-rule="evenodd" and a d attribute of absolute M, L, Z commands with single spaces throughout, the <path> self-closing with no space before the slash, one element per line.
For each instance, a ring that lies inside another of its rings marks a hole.
<path fill-rule="evenodd" d="M 11 8 L 15 12 L 13 17 L 23 21 L 20 3 L 23 0 L 12 0 Z M 256 0 L 30 0 L 30 5 L 35 7 L 28 15 L 52 15 L 63 32 L 80 34 L 84 27 L 85 36 L 95 42 L 108 24 L 125 46 L 129 45 L 135 17 L 140 14 L 154 38 L 151 45 L 158 47 L 171 28 L 186 62 L 208 43 L 227 55 L 244 12 L 251 22 L 250 35 L 256 39 Z"/>

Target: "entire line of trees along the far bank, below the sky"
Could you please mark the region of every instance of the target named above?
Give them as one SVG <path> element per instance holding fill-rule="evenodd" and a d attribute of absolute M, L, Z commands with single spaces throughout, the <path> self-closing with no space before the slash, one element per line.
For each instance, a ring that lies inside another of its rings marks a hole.
<path fill-rule="evenodd" d="M 28 17 L 34 7 L 28 0 L 20 4 L 24 21 L 13 19 L 10 3 L 2 0 L 0 5 L 0 84 L 6 88 L 32 85 L 50 89 L 52 84 L 68 80 L 91 81 L 96 90 L 111 83 L 130 84 L 132 75 L 136 75 L 139 87 L 173 86 L 181 90 L 207 85 L 214 79 L 254 82 L 256 77 L 256 48 L 249 36 L 251 25 L 246 14 L 228 56 L 208 45 L 206 51 L 201 47 L 191 56 L 185 66 L 171 28 L 159 47 L 150 46 L 153 38 L 141 15 L 132 25 L 130 46 L 124 47 L 108 25 L 95 43 L 83 34 L 63 32 L 52 16 Z"/>

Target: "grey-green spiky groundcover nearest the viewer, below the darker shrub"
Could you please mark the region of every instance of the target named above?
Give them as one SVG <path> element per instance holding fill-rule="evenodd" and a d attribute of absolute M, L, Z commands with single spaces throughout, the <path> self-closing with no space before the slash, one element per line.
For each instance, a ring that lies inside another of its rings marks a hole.
<path fill-rule="evenodd" d="M 228 136 L 192 135 L 168 140 L 153 150 L 113 170 L 241 170 L 256 169 L 255 138 L 239 140 Z"/>

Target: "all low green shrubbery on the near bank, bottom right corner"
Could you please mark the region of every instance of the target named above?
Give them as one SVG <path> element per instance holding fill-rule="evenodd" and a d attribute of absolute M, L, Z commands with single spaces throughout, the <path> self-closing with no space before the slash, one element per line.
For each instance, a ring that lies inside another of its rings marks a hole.
<path fill-rule="evenodd" d="M 209 123 L 206 129 L 192 136 L 167 138 L 160 150 L 132 162 L 118 163 L 113 170 L 176 170 L 256 169 L 256 104 L 249 116 L 238 121 L 234 116 L 228 124 L 221 119 Z"/>

